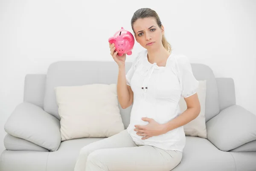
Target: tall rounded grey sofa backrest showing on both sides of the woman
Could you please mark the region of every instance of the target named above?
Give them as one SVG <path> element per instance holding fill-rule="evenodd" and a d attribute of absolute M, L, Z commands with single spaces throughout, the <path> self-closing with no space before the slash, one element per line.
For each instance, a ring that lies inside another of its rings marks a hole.
<path fill-rule="evenodd" d="M 208 66 L 192 63 L 192 71 L 197 80 L 207 80 L 206 121 L 219 113 L 218 88 L 215 76 Z M 126 73 L 131 62 L 126 63 Z M 118 66 L 114 61 L 58 61 L 47 71 L 44 96 L 44 110 L 60 119 L 55 100 L 54 87 L 93 83 L 117 83 Z M 130 120 L 131 107 L 122 109 L 119 105 L 125 126 Z"/>

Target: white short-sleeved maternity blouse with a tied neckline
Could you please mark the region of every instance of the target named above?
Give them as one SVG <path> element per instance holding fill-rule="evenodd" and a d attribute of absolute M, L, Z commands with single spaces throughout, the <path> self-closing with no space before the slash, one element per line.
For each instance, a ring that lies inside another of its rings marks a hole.
<path fill-rule="evenodd" d="M 147 50 L 141 51 L 126 74 L 126 83 L 134 92 L 127 131 L 137 144 L 183 151 L 186 141 L 183 126 L 146 140 L 141 140 L 142 136 L 134 131 L 134 125 L 148 124 L 142 117 L 152 118 L 160 124 L 177 117 L 180 98 L 195 94 L 198 88 L 198 80 L 186 56 L 170 54 L 166 66 L 157 66 L 149 63 L 147 53 Z"/>

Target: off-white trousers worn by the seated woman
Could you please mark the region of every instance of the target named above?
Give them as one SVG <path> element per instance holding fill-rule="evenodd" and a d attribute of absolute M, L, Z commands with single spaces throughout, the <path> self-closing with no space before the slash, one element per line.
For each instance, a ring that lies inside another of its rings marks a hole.
<path fill-rule="evenodd" d="M 74 171 L 170 171 L 182 152 L 137 145 L 127 129 L 81 148 Z"/>

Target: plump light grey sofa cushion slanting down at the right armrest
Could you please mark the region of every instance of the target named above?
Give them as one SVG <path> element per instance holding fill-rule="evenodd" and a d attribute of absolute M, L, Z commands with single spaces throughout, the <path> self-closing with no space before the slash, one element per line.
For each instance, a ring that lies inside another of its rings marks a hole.
<path fill-rule="evenodd" d="M 222 151 L 256 140 L 256 116 L 239 105 L 222 110 L 206 123 L 207 139 Z"/>

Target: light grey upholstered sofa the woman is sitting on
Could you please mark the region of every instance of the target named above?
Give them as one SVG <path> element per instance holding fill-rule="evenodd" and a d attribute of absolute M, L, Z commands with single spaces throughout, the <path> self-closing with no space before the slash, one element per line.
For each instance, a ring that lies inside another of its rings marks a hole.
<path fill-rule="evenodd" d="M 173 171 L 256 171 L 256 116 L 236 105 L 232 78 L 215 78 L 208 66 L 191 65 L 197 80 L 207 80 L 207 139 L 186 136 L 182 161 Z M 129 62 L 126 71 L 130 67 Z M 73 171 L 80 148 L 102 138 L 61 142 L 54 87 L 116 83 L 117 76 L 114 61 L 59 61 L 47 74 L 27 74 L 23 102 L 4 126 L 0 171 Z M 119 105 L 125 128 L 131 107 Z"/>

